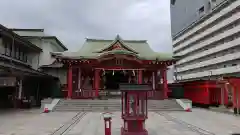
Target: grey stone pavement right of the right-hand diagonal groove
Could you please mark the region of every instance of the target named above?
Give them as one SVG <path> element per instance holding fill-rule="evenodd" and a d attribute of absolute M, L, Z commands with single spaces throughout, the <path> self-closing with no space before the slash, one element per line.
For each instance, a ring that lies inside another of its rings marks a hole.
<path fill-rule="evenodd" d="M 197 127 L 211 131 L 216 135 L 240 133 L 240 116 L 234 116 L 205 109 L 193 109 L 191 113 L 171 112 L 176 117 Z"/>

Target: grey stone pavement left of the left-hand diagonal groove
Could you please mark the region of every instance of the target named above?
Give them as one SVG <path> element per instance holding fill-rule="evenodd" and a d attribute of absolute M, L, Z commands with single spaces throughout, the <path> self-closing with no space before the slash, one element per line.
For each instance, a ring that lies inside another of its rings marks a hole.
<path fill-rule="evenodd" d="M 40 110 L 0 113 L 0 135 L 49 135 L 76 114 L 44 114 Z"/>

